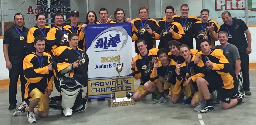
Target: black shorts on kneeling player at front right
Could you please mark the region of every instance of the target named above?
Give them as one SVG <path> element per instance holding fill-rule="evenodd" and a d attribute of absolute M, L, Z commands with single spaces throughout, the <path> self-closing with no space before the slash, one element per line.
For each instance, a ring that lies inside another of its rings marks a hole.
<path fill-rule="evenodd" d="M 233 76 L 233 75 L 232 75 Z M 221 76 L 216 73 L 215 71 L 211 71 L 209 75 L 203 77 L 208 82 L 208 89 L 209 92 L 212 93 L 214 90 L 218 91 L 217 99 L 225 102 L 230 103 L 231 99 L 236 98 L 238 95 L 238 87 L 236 85 L 237 79 L 236 77 L 234 79 L 234 88 L 232 89 L 225 89 L 222 88 L 223 81 L 221 79 Z"/>

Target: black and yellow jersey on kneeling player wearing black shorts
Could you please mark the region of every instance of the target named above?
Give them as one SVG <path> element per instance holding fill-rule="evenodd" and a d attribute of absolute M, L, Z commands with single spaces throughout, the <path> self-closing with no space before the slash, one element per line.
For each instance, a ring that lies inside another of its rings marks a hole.
<path fill-rule="evenodd" d="M 202 53 L 201 57 L 205 64 L 207 61 L 206 55 Z M 234 77 L 235 71 L 230 66 L 228 59 L 223 54 L 223 51 L 221 49 L 212 49 L 210 55 L 208 55 L 207 57 L 213 63 L 213 68 L 211 71 L 216 72 L 221 76 L 221 80 L 223 82 L 221 82 L 220 86 L 222 86 L 222 88 L 225 88 L 225 89 L 234 88 L 233 77 Z"/>

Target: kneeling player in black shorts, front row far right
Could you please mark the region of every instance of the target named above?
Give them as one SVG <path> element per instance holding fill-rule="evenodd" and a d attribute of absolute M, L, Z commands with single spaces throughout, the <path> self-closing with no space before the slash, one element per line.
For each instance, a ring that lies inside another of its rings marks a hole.
<path fill-rule="evenodd" d="M 210 100 L 209 92 L 218 91 L 217 99 L 222 101 L 223 109 L 234 107 L 241 103 L 244 98 L 244 91 L 238 93 L 238 81 L 236 74 L 221 49 L 211 49 L 210 41 L 200 40 L 201 55 L 208 74 L 198 80 L 197 85 L 200 98 L 206 101 L 206 106 L 200 110 L 201 113 L 213 111 L 214 107 Z"/>

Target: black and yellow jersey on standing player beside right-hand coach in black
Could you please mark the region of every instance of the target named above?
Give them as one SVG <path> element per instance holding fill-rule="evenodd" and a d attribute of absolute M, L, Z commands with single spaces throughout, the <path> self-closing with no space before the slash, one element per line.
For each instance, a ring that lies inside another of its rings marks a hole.
<path fill-rule="evenodd" d="M 197 21 L 193 25 L 193 34 L 194 34 L 194 38 L 196 39 L 196 49 L 200 50 L 199 40 L 202 40 L 206 33 L 207 33 L 207 36 L 208 36 L 208 40 L 211 41 L 211 46 L 212 47 L 215 46 L 215 41 L 212 39 L 212 37 L 210 36 L 209 31 L 206 29 L 212 23 L 213 23 L 213 26 L 215 27 L 213 32 L 214 32 L 214 34 L 217 34 L 219 29 L 220 29 L 220 26 L 218 25 L 218 23 L 216 21 L 208 20 L 208 22 L 203 23 L 200 20 L 200 21 Z"/>

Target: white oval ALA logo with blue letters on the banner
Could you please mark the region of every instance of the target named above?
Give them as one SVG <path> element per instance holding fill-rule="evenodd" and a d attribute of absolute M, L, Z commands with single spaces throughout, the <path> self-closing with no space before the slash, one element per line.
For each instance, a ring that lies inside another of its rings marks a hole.
<path fill-rule="evenodd" d="M 111 27 L 99 33 L 88 49 L 93 47 L 95 50 L 98 50 L 97 52 L 119 51 L 127 44 L 128 36 L 124 28 Z"/>

